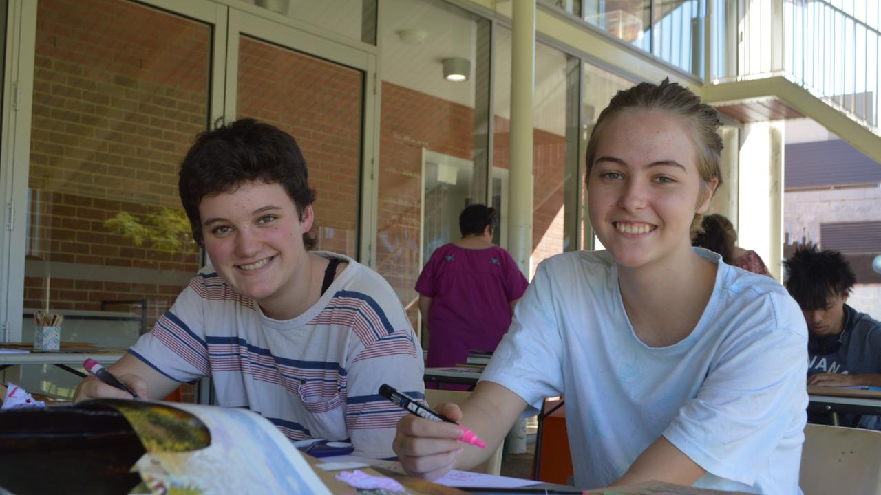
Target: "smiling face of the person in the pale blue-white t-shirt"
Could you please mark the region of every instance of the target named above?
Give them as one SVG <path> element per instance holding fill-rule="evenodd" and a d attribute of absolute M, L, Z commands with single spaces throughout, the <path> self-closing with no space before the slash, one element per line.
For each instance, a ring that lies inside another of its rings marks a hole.
<path fill-rule="evenodd" d="M 596 236 L 619 265 L 691 253 L 694 214 L 707 211 L 716 181 L 707 186 L 700 179 L 686 125 L 677 115 L 635 109 L 605 122 L 588 204 Z"/>

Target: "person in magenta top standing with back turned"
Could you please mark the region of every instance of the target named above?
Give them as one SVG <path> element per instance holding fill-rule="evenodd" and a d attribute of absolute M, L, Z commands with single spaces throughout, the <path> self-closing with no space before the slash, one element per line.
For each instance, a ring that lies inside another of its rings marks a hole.
<path fill-rule="evenodd" d="M 428 322 L 426 366 L 464 363 L 468 351 L 494 351 L 528 282 L 514 258 L 492 244 L 495 209 L 472 204 L 459 215 L 462 239 L 438 247 L 416 282 Z"/>

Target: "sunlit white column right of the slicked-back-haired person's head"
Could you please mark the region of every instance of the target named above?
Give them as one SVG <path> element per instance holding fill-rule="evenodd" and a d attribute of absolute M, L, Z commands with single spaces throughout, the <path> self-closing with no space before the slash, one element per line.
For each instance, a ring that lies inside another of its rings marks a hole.
<path fill-rule="evenodd" d="M 737 245 L 752 249 L 781 280 L 783 122 L 744 124 L 740 149 Z"/>

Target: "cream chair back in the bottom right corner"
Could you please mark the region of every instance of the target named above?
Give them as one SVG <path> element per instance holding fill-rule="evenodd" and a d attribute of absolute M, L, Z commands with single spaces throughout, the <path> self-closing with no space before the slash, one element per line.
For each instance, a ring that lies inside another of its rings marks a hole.
<path fill-rule="evenodd" d="M 807 425 L 798 484 L 804 495 L 881 495 L 881 432 Z"/>

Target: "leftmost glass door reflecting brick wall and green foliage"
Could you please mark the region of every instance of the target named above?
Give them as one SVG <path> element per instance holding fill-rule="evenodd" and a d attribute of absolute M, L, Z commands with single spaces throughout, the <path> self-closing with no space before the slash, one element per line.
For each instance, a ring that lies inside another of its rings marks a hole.
<path fill-rule="evenodd" d="M 2 340 L 29 342 L 33 314 L 42 310 L 65 317 L 63 342 L 127 347 L 198 268 L 177 174 L 193 137 L 222 114 L 212 91 L 223 84 L 216 68 L 226 41 L 216 37 L 226 33 L 226 7 L 203 0 L 3 4 L 10 47 L 0 166 L 9 236 L 0 239 Z M 4 380 L 72 396 L 73 375 L 33 369 L 4 370 Z"/>

